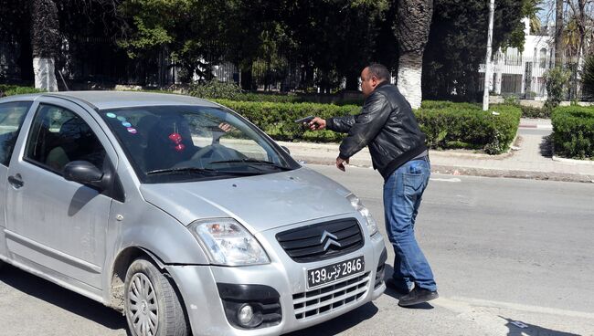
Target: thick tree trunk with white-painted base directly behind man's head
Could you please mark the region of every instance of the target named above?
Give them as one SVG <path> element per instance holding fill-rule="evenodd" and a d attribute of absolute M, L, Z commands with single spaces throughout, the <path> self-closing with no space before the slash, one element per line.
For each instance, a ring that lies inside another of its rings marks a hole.
<path fill-rule="evenodd" d="M 423 70 L 423 52 L 429 38 L 432 0 L 400 0 L 398 2 L 398 89 L 413 109 L 420 107 L 422 99 L 420 79 Z"/>

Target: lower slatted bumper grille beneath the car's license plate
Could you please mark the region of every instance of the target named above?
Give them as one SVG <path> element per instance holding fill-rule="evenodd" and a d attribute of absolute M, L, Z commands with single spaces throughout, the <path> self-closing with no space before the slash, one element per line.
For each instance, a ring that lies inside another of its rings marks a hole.
<path fill-rule="evenodd" d="M 369 288 L 369 272 L 321 289 L 292 296 L 295 319 L 302 320 L 351 305 L 362 299 Z"/>

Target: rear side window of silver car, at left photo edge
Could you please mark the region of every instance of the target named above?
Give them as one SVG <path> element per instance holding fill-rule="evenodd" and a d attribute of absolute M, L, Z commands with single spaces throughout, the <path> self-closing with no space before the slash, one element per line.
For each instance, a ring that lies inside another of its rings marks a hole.
<path fill-rule="evenodd" d="M 18 101 L 0 104 L 0 163 L 5 166 L 10 162 L 18 132 L 32 103 Z"/>

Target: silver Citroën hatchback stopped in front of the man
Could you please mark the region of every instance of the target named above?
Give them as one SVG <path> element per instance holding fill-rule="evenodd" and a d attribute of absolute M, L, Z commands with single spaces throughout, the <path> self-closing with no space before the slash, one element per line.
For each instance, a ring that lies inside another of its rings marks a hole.
<path fill-rule="evenodd" d="M 0 100 L 0 263 L 133 335 L 278 335 L 377 299 L 383 237 L 345 187 L 207 100 Z"/>

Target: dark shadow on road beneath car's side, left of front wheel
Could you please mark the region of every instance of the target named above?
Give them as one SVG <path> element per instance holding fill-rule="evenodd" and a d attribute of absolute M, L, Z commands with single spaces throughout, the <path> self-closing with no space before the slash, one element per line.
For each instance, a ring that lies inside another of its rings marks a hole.
<path fill-rule="evenodd" d="M 5 265 L 0 273 L 0 281 L 27 295 L 99 323 L 105 328 L 114 331 L 123 329 L 128 332 L 126 320 L 120 312 L 18 268 Z"/>

